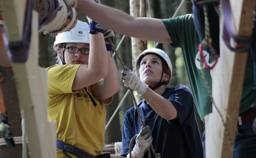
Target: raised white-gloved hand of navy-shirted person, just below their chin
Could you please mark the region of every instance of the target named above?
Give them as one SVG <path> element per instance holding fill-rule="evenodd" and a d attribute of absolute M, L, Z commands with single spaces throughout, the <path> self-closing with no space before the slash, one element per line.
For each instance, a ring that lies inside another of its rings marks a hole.
<path fill-rule="evenodd" d="M 142 82 L 137 75 L 132 72 L 129 68 L 125 67 L 126 70 L 122 70 L 122 76 L 124 86 L 126 86 L 129 89 L 137 91 L 138 94 L 143 95 L 148 86 Z"/>

